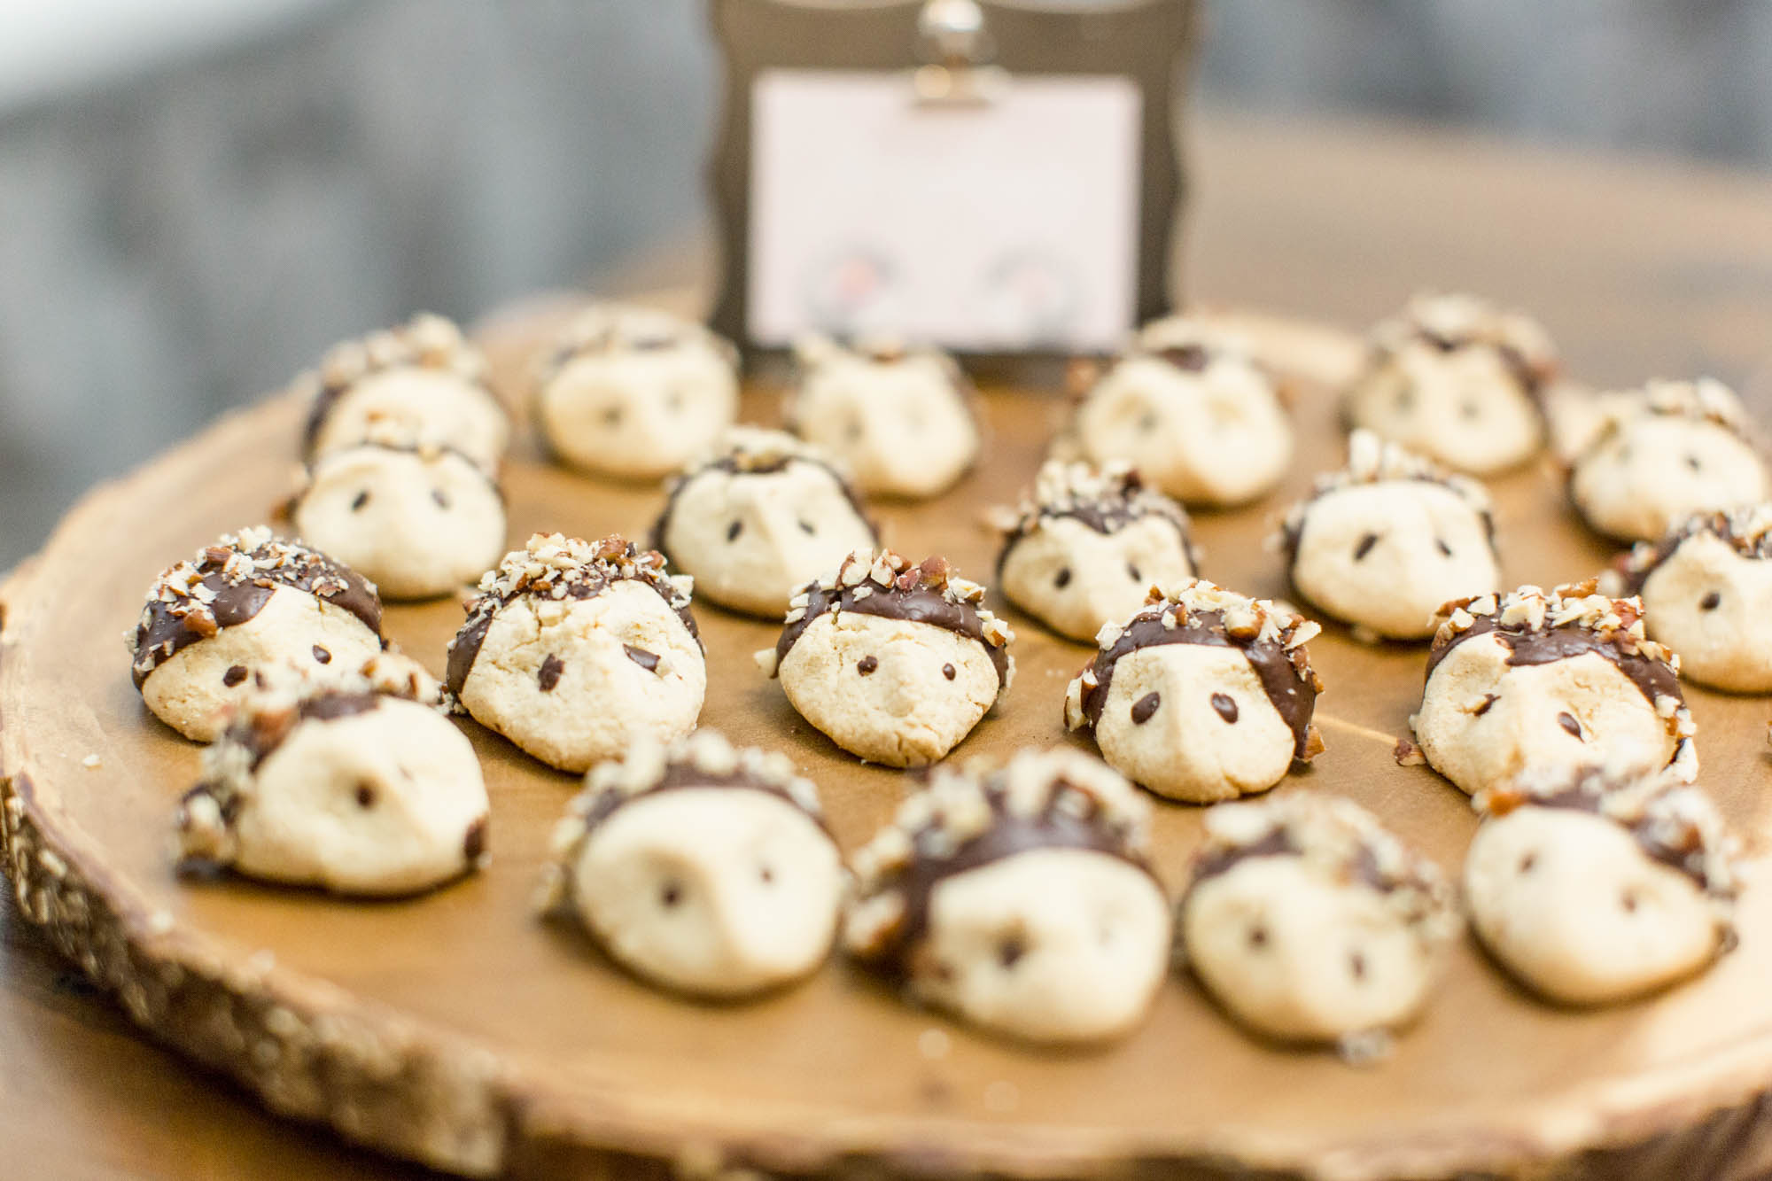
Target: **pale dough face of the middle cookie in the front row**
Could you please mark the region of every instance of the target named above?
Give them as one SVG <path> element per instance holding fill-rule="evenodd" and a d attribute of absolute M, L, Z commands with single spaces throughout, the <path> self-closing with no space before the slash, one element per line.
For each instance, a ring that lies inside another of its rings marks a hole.
<path fill-rule="evenodd" d="M 1125 1034 L 1170 963 L 1162 888 L 1092 849 L 1030 849 L 944 878 L 927 931 L 916 954 L 941 966 L 913 977 L 916 995 L 1028 1041 Z"/>

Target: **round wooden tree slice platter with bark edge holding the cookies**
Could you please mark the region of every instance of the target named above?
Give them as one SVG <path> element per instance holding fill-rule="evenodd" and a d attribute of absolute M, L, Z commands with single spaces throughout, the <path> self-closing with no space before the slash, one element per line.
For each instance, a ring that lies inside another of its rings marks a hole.
<path fill-rule="evenodd" d="M 514 356 L 551 317 L 507 321 L 493 344 Z M 1286 587 L 1262 541 L 1311 473 L 1340 463 L 1322 379 L 1356 346 L 1251 323 L 1276 364 L 1317 378 L 1301 383 L 1301 456 L 1272 498 L 1198 514 L 1196 528 L 1210 578 L 1274 596 Z M 985 408 L 992 440 L 975 475 L 934 504 L 879 511 L 893 546 L 944 553 L 982 580 L 994 557 L 982 511 L 1014 502 L 1063 413 L 1049 394 L 1006 388 L 987 390 Z M 766 390 L 744 410 L 776 420 Z M 755 1004 L 657 993 L 576 931 L 532 919 L 576 782 L 470 722 L 493 794 L 487 872 L 376 904 L 179 880 L 168 826 L 198 750 L 142 708 L 120 635 L 165 566 L 287 495 L 301 413 L 271 401 L 94 491 L 5 585 L 0 631 L 4 835 L 23 913 L 144 1028 L 273 1110 L 443 1169 L 549 1177 L 641 1158 L 689 1172 L 1212 1177 L 1753 1176 L 1772 1163 L 1772 885 L 1749 887 L 1740 949 L 1715 970 L 1613 1009 L 1538 1004 L 1464 942 L 1395 1053 L 1356 1068 L 1251 1039 L 1180 975 L 1136 1036 L 1070 1053 L 909 1007 L 840 959 Z M 549 466 L 528 443 L 507 475 L 512 539 L 645 536 L 661 504 L 657 489 Z M 1510 583 L 1581 578 L 1609 559 L 1568 516 L 1549 465 L 1494 493 Z M 750 658 L 774 628 L 712 606 L 698 619 L 703 723 L 790 752 L 852 849 L 907 777 L 859 766 L 789 709 Z M 1010 619 L 1019 676 L 960 755 L 1074 741 L 1061 697 L 1088 649 Z M 390 633 L 438 672 L 459 622 L 454 601 L 388 610 Z M 1423 649 L 1363 647 L 1331 626 L 1311 651 L 1329 748 L 1279 791 L 1347 794 L 1455 874 L 1476 825 L 1467 800 L 1391 755 Z M 1703 782 L 1744 835 L 1761 832 L 1767 704 L 1689 693 Z M 1155 805 L 1171 888 L 1198 833 L 1200 810 Z"/>

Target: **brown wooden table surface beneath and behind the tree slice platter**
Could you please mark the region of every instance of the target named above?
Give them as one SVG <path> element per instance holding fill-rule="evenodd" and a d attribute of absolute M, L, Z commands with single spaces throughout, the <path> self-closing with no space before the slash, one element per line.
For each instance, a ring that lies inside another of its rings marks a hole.
<path fill-rule="evenodd" d="M 1712 372 L 1772 413 L 1772 176 L 1368 124 L 1207 113 L 1191 144 L 1191 296 L 1359 328 L 1419 287 L 1538 312 L 1570 371 Z M 611 291 L 705 284 L 700 239 Z M 142 1039 L 0 894 L 0 1176 L 418 1177 L 282 1122 Z"/>

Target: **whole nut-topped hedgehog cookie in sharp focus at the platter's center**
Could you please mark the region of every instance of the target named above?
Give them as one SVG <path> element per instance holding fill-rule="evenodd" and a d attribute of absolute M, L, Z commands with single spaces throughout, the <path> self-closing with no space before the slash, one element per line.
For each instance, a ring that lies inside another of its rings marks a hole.
<path fill-rule="evenodd" d="M 794 596 L 757 663 L 849 754 L 923 766 L 971 734 L 1015 672 L 1015 637 L 983 598 L 944 559 L 851 553 Z"/>

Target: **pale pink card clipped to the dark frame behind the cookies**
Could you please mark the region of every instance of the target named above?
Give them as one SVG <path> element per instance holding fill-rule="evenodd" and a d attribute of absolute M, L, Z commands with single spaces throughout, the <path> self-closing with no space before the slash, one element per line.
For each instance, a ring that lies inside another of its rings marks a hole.
<path fill-rule="evenodd" d="M 751 339 L 1115 348 L 1138 284 L 1139 105 L 1120 76 L 1014 76 L 941 106 L 902 73 L 758 74 Z"/>

